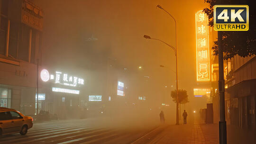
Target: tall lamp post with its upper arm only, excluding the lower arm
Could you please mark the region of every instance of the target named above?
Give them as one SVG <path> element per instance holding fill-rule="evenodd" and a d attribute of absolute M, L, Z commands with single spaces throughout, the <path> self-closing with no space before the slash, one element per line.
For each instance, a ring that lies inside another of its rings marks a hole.
<path fill-rule="evenodd" d="M 177 63 L 177 23 L 175 18 L 168 12 L 166 11 L 164 8 L 162 8 L 160 5 L 157 5 L 156 7 L 163 9 L 167 14 L 169 14 L 175 22 L 175 40 L 176 40 L 176 44 L 175 44 L 175 56 L 176 56 L 176 90 L 177 90 L 177 101 L 176 101 L 176 125 L 179 125 L 179 99 L 178 99 L 178 63 Z"/>

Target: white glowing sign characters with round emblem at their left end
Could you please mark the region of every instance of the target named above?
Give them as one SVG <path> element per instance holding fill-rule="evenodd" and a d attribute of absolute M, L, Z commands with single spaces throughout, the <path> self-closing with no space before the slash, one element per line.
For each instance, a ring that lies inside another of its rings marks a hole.
<path fill-rule="evenodd" d="M 69 75 L 63 72 L 55 72 L 55 74 L 50 74 L 46 69 L 41 71 L 42 81 L 52 81 L 57 84 L 62 84 L 70 87 L 82 86 L 84 80 L 76 76 Z"/>

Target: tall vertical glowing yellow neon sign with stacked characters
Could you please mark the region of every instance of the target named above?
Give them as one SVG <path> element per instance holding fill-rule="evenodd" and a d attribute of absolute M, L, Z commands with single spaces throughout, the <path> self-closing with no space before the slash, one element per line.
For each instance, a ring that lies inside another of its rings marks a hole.
<path fill-rule="evenodd" d="M 196 12 L 196 52 L 197 81 L 210 81 L 208 16 L 202 10 Z"/>

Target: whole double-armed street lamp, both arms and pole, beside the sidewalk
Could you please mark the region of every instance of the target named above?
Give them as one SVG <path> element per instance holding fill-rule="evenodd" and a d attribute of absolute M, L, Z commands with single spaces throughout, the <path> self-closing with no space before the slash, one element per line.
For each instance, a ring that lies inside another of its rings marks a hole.
<path fill-rule="evenodd" d="M 167 43 L 165 43 L 164 41 L 160 40 L 160 39 L 155 39 L 155 38 L 151 38 L 150 36 L 146 36 L 144 35 L 145 38 L 147 39 L 155 39 L 155 40 L 158 40 L 158 41 L 161 41 L 163 43 L 165 43 L 165 45 L 168 45 L 169 47 L 171 47 L 174 52 L 175 52 L 175 57 L 176 57 L 176 91 L 177 91 L 177 100 L 176 100 L 176 125 L 179 125 L 179 99 L 178 99 L 178 64 L 177 64 L 177 23 L 176 23 L 176 20 L 175 18 L 168 12 L 166 11 L 164 8 L 162 8 L 160 5 L 157 5 L 156 6 L 157 8 L 159 9 L 163 9 L 166 13 L 168 13 L 173 19 L 174 19 L 174 22 L 175 22 L 175 39 L 176 39 L 176 44 L 175 44 L 175 48 Z"/>

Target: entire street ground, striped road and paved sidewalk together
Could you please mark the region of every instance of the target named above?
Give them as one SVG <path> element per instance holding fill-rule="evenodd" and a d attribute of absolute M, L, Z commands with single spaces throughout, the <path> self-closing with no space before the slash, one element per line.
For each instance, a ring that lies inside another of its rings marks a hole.
<path fill-rule="evenodd" d="M 35 123 L 27 135 L 1 137 L 0 144 L 218 144 L 217 125 L 205 125 L 199 119 L 187 125 L 110 128 L 101 118 L 60 120 Z M 104 118 L 106 120 L 106 118 Z M 228 127 L 229 144 L 254 144 L 254 134 Z M 231 138 L 232 135 L 243 139 Z"/>

